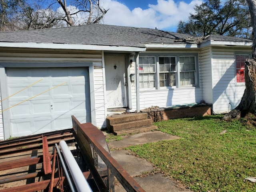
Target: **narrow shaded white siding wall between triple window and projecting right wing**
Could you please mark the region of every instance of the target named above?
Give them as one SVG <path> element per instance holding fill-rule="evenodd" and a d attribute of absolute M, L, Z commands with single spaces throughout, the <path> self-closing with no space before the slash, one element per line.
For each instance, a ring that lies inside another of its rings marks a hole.
<path fill-rule="evenodd" d="M 201 51 L 201 74 L 202 74 L 202 92 L 203 100 L 206 103 L 213 102 L 212 94 L 212 68 L 210 48 L 204 48 Z"/>

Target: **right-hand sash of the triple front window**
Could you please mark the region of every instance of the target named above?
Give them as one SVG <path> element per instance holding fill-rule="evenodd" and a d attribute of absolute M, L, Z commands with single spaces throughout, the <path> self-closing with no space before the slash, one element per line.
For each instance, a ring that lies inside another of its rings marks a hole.
<path fill-rule="evenodd" d="M 180 86 L 195 86 L 195 57 L 180 57 Z"/>

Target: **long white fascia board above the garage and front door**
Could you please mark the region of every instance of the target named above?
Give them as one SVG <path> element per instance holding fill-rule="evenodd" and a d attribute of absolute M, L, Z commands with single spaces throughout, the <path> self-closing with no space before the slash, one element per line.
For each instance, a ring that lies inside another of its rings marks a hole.
<path fill-rule="evenodd" d="M 28 42 L 0 42 L 0 47 L 10 48 L 45 48 L 45 49 L 73 49 L 73 50 L 104 50 L 104 51 L 146 51 L 146 47 L 131 46 L 104 46 L 104 45 L 79 45 L 79 44 L 49 44 Z"/>

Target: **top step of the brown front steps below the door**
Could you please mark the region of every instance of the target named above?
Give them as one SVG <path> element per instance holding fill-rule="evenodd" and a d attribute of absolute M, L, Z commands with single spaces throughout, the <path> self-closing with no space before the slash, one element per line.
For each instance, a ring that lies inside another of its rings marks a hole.
<path fill-rule="evenodd" d="M 124 122 L 137 121 L 147 119 L 147 113 L 128 113 L 128 114 L 117 114 L 106 117 L 107 126 L 113 124 L 119 124 Z"/>

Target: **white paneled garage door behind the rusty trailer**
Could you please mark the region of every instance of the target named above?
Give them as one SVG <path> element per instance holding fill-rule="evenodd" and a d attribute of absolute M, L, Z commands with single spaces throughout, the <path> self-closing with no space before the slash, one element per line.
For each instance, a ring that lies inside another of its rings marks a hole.
<path fill-rule="evenodd" d="M 72 128 L 90 122 L 88 68 L 8 68 L 10 135 Z"/>

